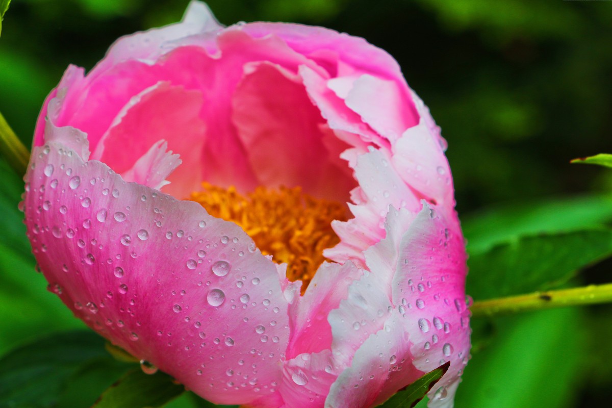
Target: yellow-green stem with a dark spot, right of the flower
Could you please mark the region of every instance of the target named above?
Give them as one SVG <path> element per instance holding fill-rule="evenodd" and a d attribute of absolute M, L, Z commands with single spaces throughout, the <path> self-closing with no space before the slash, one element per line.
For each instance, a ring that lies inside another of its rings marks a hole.
<path fill-rule="evenodd" d="M 612 283 L 534 292 L 526 295 L 502 297 L 474 302 L 472 316 L 495 316 L 529 310 L 560 308 L 563 306 L 593 305 L 612 302 Z"/>

